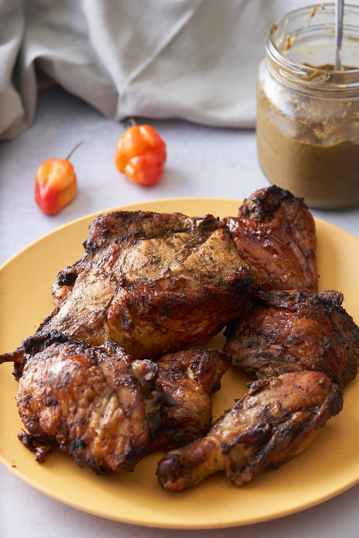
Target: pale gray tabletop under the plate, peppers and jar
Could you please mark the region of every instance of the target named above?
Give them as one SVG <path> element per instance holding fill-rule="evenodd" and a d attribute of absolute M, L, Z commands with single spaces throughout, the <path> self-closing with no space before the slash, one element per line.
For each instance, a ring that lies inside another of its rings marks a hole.
<path fill-rule="evenodd" d="M 268 185 L 256 157 L 253 131 L 213 129 L 177 121 L 154 121 L 168 147 L 166 172 L 153 188 L 126 181 L 114 168 L 113 152 L 123 125 L 114 123 L 59 88 L 39 97 L 31 129 L 0 144 L 0 263 L 44 233 L 74 218 L 127 203 L 176 196 L 243 198 Z M 34 173 L 50 157 L 64 158 L 80 140 L 72 162 L 76 199 L 54 217 L 34 203 Z M 313 211 L 315 216 L 359 236 L 359 209 Z M 267 523 L 236 529 L 190 532 L 191 536 L 293 538 L 357 536 L 359 485 L 322 505 Z M 107 521 L 62 505 L 0 467 L 0 537 L 95 538 L 173 536 L 188 531 L 149 529 Z"/>

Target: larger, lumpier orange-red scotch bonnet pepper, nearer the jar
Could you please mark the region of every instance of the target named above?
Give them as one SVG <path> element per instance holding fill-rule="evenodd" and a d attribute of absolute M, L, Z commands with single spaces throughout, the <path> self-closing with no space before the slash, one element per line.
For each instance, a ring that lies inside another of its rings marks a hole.
<path fill-rule="evenodd" d="M 150 125 L 133 125 L 119 138 L 114 161 L 119 172 L 141 185 L 155 185 L 163 174 L 166 144 Z"/>

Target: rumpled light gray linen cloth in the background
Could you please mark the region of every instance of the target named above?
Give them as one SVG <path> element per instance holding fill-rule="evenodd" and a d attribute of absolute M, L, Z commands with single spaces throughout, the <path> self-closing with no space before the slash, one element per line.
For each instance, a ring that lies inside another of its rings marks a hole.
<path fill-rule="evenodd" d="M 106 116 L 253 127 L 263 39 L 307 0 L 0 0 L 0 139 L 32 122 L 35 68 Z"/>

